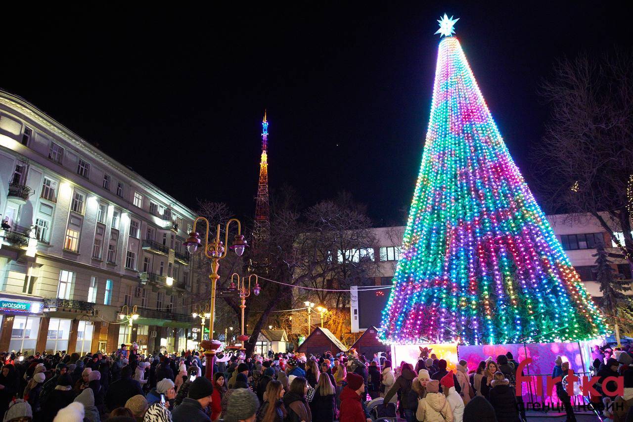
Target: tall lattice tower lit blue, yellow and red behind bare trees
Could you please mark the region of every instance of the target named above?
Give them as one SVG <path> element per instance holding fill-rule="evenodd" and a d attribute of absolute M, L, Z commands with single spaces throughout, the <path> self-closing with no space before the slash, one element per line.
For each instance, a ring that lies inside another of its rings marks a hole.
<path fill-rule="evenodd" d="M 266 245 L 270 237 L 270 205 L 268 203 L 268 121 L 266 112 L 261 122 L 260 182 L 257 187 L 253 250 L 257 252 Z"/>

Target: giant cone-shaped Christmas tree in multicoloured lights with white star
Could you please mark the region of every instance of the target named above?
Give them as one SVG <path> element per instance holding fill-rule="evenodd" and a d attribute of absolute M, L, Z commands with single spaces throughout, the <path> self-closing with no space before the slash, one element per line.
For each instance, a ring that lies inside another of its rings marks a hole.
<path fill-rule="evenodd" d="M 439 20 L 433 101 L 394 288 L 389 343 L 573 341 L 605 333 Z"/>

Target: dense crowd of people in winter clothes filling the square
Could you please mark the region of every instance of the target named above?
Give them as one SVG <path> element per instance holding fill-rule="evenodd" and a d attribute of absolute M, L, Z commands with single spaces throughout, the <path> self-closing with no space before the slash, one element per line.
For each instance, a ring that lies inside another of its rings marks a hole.
<path fill-rule="evenodd" d="M 596 408 L 606 421 L 633 421 L 633 349 L 596 347 L 594 357 Z M 415 366 L 397 367 L 389 354 L 353 349 L 217 358 L 210 381 L 204 356 L 194 351 L 144 355 L 122 345 L 110 355 L 1 353 L 0 414 L 3 422 L 370 422 L 398 414 L 407 422 L 526 420 L 509 352 L 477 366 L 428 349 Z M 552 376 L 567 369 L 558 357 Z M 624 378 L 624 394 L 610 393 L 608 376 Z M 567 421 L 575 421 L 563 382 L 556 393 Z"/>

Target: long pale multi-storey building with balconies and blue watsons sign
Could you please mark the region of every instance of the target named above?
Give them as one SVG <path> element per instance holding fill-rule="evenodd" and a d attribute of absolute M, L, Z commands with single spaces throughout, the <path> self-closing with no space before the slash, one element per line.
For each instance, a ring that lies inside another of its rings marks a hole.
<path fill-rule="evenodd" d="M 193 212 L 4 91 L 0 214 L 0 350 L 111 352 L 130 338 L 172 351 L 199 340 L 200 290 L 182 246 Z M 128 337 L 120 317 L 134 305 Z"/>

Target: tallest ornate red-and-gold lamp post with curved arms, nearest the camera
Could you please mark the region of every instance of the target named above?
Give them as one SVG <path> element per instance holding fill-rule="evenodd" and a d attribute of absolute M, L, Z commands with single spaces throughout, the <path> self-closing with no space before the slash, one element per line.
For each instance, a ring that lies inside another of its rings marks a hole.
<path fill-rule="evenodd" d="M 216 229 L 215 239 L 209 240 L 209 229 L 211 224 L 204 217 L 197 217 L 196 221 L 194 221 L 194 229 L 196 227 L 196 223 L 198 221 L 206 222 L 206 234 L 204 235 L 204 245 L 200 240 L 200 234 L 196 231 L 192 231 L 189 233 L 189 238 L 183 243 L 183 245 L 187 246 L 187 250 L 189 253 L 196 253 L 199 246 L 204 247 L 204 256 L 211 260 L 211 274 L 209 274 L 209 278 L 211 279 L 211 312 L 209 319 L 209 340 L 208 342 L 201 342 L 201 346 L 204 348 L 204 355 L 206 356 L 206 369 L 204 369 L 204 376 L 208 378 L 211 382 L 213 382 L 213 359 L 215 357 L 215 351 L 222 345 L 222 343 L 217 340 L 213 340 L 213 319 L 215 317 L 215 286 L 220 279 L 220 275 L 218 274 L 218 269 L 220 269 L 220 260 L 224 259 L 227 256 L 227 249 L 225 245 L 229 243 L 229 226 L 232 222 L 237 223 L 237 234 L 233 239 L 233 245 L 230 246 L 230 249 L 234 250 L 237 256 L 242 256 L 244 253 L 244 248 L 246 248 L 247 243 L 242 236 L 242 224 L 238 219 L 230 219 L 227 221 L 227 224 L 224 227 L 224 241 L 220 240 L 220 224 Z M 204 331 L 203 331 L 204 334 Z"/>

